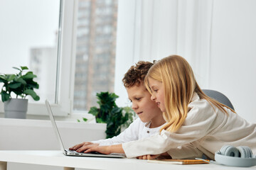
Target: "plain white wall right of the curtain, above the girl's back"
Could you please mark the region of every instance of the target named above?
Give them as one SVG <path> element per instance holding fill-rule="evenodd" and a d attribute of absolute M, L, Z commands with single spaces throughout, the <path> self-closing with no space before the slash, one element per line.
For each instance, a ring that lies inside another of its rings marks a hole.
<path fill-rule="evenodd" d="M 209 88 L 256 123 L 256 1 L 214 1 Z"/>

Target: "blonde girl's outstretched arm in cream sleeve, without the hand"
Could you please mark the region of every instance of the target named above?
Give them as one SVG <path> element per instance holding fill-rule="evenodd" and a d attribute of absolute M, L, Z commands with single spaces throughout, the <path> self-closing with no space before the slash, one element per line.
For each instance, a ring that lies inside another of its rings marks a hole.
<path fill-rule="evenodd" d="M 176 132 L 162 130 L 161 134 L 123 143 L 122 148 L 126 156 L 132 158 L 147 154 L 161 154 L 170 149 L 195 142 L 206 137 L 213 130 L 218 130 L 226 116 L 220 111 L 218 114 L 215 113 L 210 103 L 200 100 L 199 97 L 191 102 L 188 108 L 190 111 L 186 120 Z"/>

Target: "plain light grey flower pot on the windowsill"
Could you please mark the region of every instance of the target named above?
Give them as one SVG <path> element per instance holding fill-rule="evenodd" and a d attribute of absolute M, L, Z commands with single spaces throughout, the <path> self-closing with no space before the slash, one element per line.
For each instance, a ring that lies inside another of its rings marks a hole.
<path fill-rule="evenodd" d="M 11 98 L 4 102 L 4 118 L 26 119 L 28 111 L 28 99 Z"/>

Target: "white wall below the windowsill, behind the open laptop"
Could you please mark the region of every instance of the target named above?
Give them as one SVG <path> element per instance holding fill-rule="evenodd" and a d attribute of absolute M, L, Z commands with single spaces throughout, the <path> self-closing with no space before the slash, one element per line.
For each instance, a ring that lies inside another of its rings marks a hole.
<path fill-rule="evenodd" d="M 66 148 L 105 139 L 106 124 L 56 121 Z M 0 150 L 60 149 L 50 120 L 0 118 Z"/>

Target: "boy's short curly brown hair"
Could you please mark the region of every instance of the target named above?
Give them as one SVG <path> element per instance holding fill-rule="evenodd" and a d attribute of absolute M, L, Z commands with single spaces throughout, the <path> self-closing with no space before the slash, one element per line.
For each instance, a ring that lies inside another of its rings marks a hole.
<path fill-rule="evenodd" d="M 151 62 L 139 61 L 135 66 L 130 67 L 122 79 L 124 87 L 139 86 L 139 84 L 144 83 L 144 78 L 152 65 Z"/>

